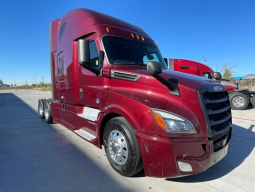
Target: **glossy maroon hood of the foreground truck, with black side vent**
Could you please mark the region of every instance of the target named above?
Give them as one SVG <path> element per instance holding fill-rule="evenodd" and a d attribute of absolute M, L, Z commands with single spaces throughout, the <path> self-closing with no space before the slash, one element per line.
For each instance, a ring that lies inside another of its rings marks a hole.
<path fill-rule="evenodd" d="M 177 85 L 180 94 L 172 94 L 167 86 L 148 74 L 146 66 L 138 65 L 113 66 L 110 92 L 124 96 L 122 101 L 125 97 L 133 99 L 143 104 L 137 103 L 137 106 L 146 106 L 144 109 L 163 110 L 183 117 L 194 125 L 198 137 L 204 137 L 207 133 L 204 128 L 206 122 L 198 91 L 212 87 L 214 83 L 206 78 L 168 69 L 159 75 Z"/>

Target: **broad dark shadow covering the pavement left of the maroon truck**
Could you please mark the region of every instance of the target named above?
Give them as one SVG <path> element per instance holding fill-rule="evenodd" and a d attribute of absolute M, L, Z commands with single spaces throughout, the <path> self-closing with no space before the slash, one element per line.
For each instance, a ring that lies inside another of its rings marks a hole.
<path fill-rule="evenodd" d="M 81 151 L 53 126 L 19 97 L 0 93 L 0 191 L 126 190 L 86 154 L 95 152 Z"/>

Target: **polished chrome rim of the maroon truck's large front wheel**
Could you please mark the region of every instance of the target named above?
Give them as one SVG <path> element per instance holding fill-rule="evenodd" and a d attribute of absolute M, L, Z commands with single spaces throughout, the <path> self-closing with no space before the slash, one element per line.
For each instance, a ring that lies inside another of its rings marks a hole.
<path fill-rule="evenodd" d="M 128 159 L 128 147 L 121 132 L 112 130 L 108 136 L 107 148 L 112 160 L 118 165 L 124 165 Z"/>

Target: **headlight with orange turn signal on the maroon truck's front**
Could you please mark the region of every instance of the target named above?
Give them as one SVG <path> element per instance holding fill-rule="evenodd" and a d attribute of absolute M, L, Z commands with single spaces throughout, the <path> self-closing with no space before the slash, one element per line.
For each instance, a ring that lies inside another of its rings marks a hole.
<path fill-rule="evenodd" d="M 155 109 L 151 111 L 157 124 L 167 132 L 196 133 L 192 124 L 182 117 Z"/>

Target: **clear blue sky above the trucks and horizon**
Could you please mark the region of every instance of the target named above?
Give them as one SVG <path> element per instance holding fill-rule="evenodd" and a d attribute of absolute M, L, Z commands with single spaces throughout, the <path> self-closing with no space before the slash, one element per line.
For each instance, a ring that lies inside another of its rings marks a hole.
<path fill-rule="evenodd" d="M 75 8 L 102 12 L 145 30 L 167 58 L 255 74 L 253 0 L 0 0 L 0 79 L 50 82 L 49 23 Z"/>

